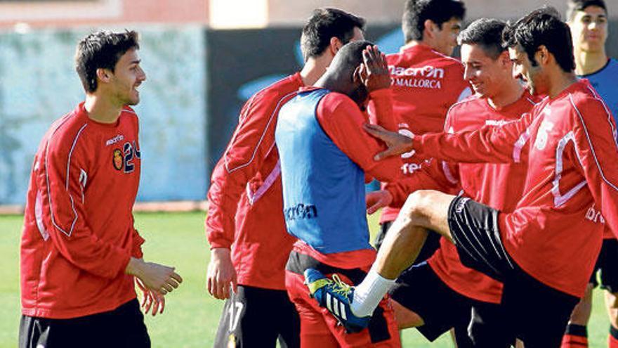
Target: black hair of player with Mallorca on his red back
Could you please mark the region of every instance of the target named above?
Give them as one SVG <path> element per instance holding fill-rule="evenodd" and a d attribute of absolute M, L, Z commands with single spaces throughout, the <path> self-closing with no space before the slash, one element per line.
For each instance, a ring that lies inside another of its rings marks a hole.
<path fill-rule="evenodd" d="M 466 6 L 461 1 L 407 0 L 401 25 L 405 42 L 423 39 L 426 20 L 431 20 L 441 30 L 444 22 L 452 18 L 463 20 L 465 16 Z"/>

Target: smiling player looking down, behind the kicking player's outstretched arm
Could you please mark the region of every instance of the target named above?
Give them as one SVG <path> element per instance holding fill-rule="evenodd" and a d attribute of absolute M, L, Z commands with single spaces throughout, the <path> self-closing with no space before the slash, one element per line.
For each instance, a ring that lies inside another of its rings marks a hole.
<path fill-rule="evenodd" d="M 519 120 L 538 101 L 513 79 L 512 63 L 502 46 L 504 27 L 500 20 L 480 19 L 459 34 L 464 76 L 475 96 L 449 109 L 444 127 L 448 133 Z M 525 165 L 516 163 L 459 165 L 430 160 L 407 179 L 386 184 L 382 194 L 391 205 L 401 206 L 416 190 L 463 190 L 466 197 L 497 210 L 511 211 L 521 198 L 525 175 Z M 369 213 L 380 207 L 369 207 Z M 471 307 L 489 307 L 499 315 L 502 284 L 463 266 L 454 245 L 442 239 L 428 262 L 402 273 L 390 295 L 400 328 L 416 326 L 430 341 L 455 328 L 457 347 L 463 348 L 471 346 L 467 330 Z M 485 323 L 484 331 L 500 335 L 501 325 L 487 324 L 492 323 Z M 473 334 L 478 330 L 475 326 Z"/>

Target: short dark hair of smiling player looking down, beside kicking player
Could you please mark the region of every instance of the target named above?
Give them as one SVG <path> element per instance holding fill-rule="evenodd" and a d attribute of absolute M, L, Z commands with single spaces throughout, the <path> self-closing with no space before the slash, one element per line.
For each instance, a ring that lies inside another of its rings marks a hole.
<path fill-rule="evenodd" d="M 502 52 L 506 51 L 506 47 L 502 44 L 504 27 L 506 27 L 506 22 L 502 20 L 480 18 L 460 32 L 457 41 L 460 45 L 478 45 L 487 56 L 496 60 Z"/>

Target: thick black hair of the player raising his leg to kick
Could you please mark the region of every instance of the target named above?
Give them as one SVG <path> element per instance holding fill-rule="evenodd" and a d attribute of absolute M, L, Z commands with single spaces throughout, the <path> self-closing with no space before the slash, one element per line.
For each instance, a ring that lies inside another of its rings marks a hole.
<path fill-rule="evenodd" d="M 551 6 L 541 7 L 514 24 L 508 24 L 502 39 L 506 47 L 521 46 L 532 66 L 538 65 L 534 53 L 543 45 L 553 54 L 563 71 L 571 72 L 575 69 L 571 31 L 560 19 L 558 11 Z"/>

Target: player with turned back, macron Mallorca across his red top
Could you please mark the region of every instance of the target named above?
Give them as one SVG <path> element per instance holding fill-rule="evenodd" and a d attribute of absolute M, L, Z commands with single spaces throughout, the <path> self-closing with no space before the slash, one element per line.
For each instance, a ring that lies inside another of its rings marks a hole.
<path fill-rule="evenodd" d="M 402 18 L 405 45 L 400 53 L 386 57 L 393 89 L 393 111 L 401 121 L 398 130 L 412 136 L 442 131 L 449 107 L 471 94 L 463 81 L 463 66 L 449 57 L 457 46 L 457 34 L 466 7 L 456 0 L 407 0 Z M 409 176 L 419 169 L 423 158 L 414 152 L 402 154 L 402 173 Z M 383 204 L 380 192 L 369 200 Z M 388 204 L 387 204 L 388 205 Z M 382 244 L 399 208 L 385 207 L 374 245 Z M 432 235 L 423 246 L 418 261 L 438 248 L 440 236 Z"/>

